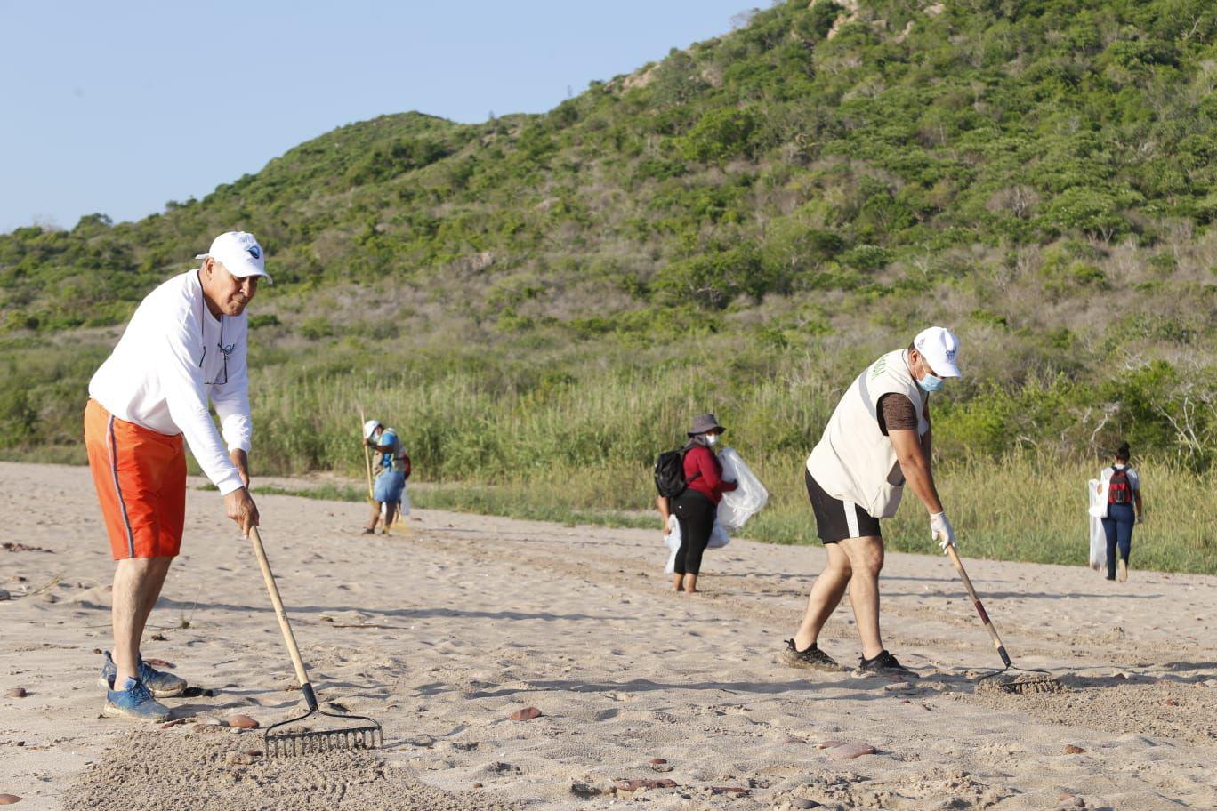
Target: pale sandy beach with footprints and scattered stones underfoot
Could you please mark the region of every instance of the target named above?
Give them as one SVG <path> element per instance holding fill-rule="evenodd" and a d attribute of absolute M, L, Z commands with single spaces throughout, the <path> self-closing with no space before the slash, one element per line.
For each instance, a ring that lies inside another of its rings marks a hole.
<path fill-rule="evenodd" d="M 320 699 L 385 727 L 374 755 L 268 761 L 260 731 L 212 723 L 301 704 L 219 496 L 189 492 L 145 637 L 203 691 L 161 730 L 99 717 L 112 563 L 88 471 L 0 463 L 0 794 L 21 809 L 1217 807 L 1217 578 L 964 547 L 1016 664 L 1069 688 L 977 693 L 997 655 L 941 557 L 890 554 L 882 576 L 885 641 L 921 678 L 854 677 L 779 660 L 819 546 L 733 541 L 678 596 L 657 530 L 415 511 L 361 536 L 364 505 L 263 496 Z M 857 661 L 847 606 L 821 647 Z"/>

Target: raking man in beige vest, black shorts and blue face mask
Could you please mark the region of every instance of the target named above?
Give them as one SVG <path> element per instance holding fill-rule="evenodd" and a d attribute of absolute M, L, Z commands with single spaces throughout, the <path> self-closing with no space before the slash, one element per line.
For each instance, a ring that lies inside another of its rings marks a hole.
<path fill-rule="evenodd" d="M 912 672 L 884 648 L 879 635 L 879 520 L 896 514 L 907 483 L 930 513 L 931 537 L 943 552 L 955 542 L 930 471 L 930 393 L 942 388 L 944 378 L 959 377 L 958 350 L 949 330 L 930 327 L 908 349 L 876 360 L 845 393 L 807 458 L 807 494 L 829 563 L 812 585 L 798 632 L 786 641 L 786 664 L 840 670 L 817 638 L 848 586 L 862 637 L 858 669 Z"/>

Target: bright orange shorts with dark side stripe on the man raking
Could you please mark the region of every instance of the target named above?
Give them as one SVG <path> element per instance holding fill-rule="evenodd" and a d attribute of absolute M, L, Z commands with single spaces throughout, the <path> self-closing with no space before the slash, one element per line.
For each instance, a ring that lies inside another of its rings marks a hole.
<path fill-rule="evenodd" d="M 186 523 L 181 434 L 119 419 L 89 400 L 84 445 L 114 559 L 176 557 Z"/>

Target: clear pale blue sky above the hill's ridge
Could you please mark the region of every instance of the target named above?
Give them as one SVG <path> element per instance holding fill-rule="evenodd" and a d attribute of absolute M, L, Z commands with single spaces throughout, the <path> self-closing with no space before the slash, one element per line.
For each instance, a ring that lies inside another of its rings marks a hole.
<path fill-rule="evenodd" d="M 0 0 L 0 232 L 139 219 L 382 113 L 543 112 L 747 7 Z"/>

